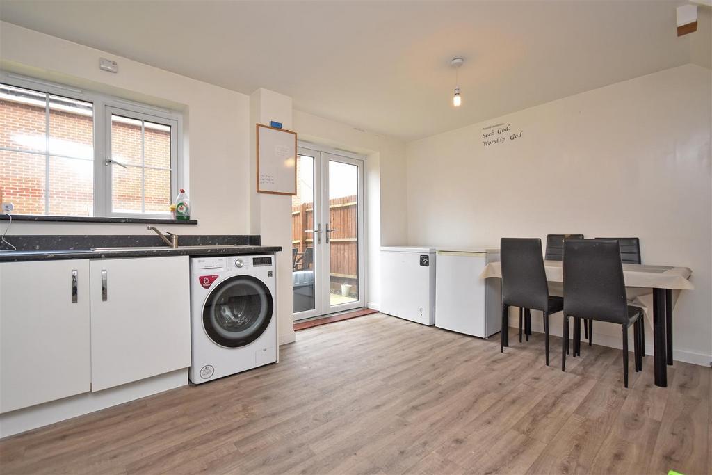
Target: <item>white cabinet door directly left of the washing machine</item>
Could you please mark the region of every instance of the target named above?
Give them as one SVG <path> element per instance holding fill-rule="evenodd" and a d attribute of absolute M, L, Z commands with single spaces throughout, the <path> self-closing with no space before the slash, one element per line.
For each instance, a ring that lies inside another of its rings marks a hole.
<path fill-rule="evenodd" d="M 104 259 L 90 267 L 92 390 L 189 367 L 188 256 Z"/>

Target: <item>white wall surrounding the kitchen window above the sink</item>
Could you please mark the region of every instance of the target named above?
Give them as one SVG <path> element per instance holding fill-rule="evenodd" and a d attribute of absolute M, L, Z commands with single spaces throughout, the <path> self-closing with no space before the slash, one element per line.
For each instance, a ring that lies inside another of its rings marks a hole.
<path fill-rule="evenodd" d="M 119 73 L 100 71 L 100 57 Z M 247 95 L 0 22 L 0 66 L 81 88 L 184 110 L 192 217 L 177 234 L 248 234 L 249 100 Z M 144 234 L 145 225 L 15 221 L 11 234 Z M 270 243 L 266 243 L 270 244 Z"/>

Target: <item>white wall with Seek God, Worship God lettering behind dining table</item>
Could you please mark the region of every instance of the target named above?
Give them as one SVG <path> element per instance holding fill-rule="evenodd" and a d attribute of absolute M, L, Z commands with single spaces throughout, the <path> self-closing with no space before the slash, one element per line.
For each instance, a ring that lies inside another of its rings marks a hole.
<path fill-rule="evenodd" d="M 639 236 L 644 263 L 693 270 L 695 290 L 675 308 L 675 355 L 708 364 L 711 90 L 711 71 L 689 64 L 409 143 L 409 244 Z M 484 147 L 483 127 L 500 123 L 522 136 Z M 619 340 L 613 325 L 595 327 L 599 343 Z"/>

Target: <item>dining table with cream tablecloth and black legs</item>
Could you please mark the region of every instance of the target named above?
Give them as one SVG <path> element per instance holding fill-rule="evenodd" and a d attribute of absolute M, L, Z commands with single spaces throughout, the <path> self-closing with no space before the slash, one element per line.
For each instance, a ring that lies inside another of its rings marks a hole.
<path fill-rule="evenodd" d="M 646 292 L 651 296 L 653 326 L 653 358 L 655 385 L 667 387 L 667 366 L 673 364 L 673 308 L 680 291 L 693 290 L 692 271 L 687 267 L 650 266 L 624 263 L 623 278 L 626 289 L 635 296 L 636 303 L 644 304 Z M 546 280 L 561 285 L 564 281 L 562 261 L 544 261 Z M 480 278 L 502 278 L 500 262 L 488 263 Z M 629 296 L 630 297 L 630 296 Z M 503 332 L 508 332 L 506 327 Z"/>

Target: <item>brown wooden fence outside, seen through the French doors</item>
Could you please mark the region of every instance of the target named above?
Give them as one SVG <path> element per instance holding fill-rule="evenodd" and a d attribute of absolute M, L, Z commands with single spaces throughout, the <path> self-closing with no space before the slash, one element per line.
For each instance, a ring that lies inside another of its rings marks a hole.
<path fill-rule="evenodd" d="M 340 291 L 342 283 L 356 285 L 358 276 L 358 206 L 357 196 L 341 197 L 329 201 L 329 226 L 335 229 L 330 236 L 331 286 Z M 292 207 L 292 247 L 298 253 L 313 247 L 313 203 Z M 322 239 L 325 239 L 322 233 Z M 310 266 L 313 268 L 313 266 Z"/>

